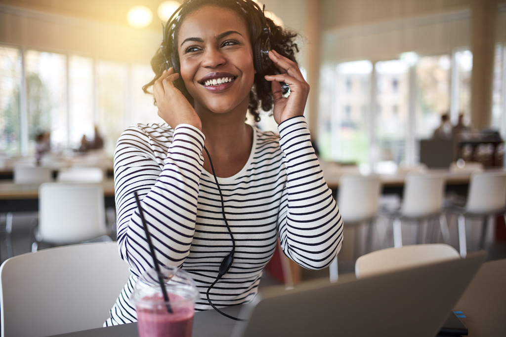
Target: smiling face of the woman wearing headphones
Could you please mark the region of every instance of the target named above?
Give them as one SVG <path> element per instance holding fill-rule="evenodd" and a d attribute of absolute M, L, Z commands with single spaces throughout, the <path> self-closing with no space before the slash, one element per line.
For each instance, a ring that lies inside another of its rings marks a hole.
<path fill-rule="evenodd" d="M 231 9 L 204 6 L 184 19 L 178 44 L 181 77 L 195 110 L 245 113 L 255 70 L 243 19 Z"/>

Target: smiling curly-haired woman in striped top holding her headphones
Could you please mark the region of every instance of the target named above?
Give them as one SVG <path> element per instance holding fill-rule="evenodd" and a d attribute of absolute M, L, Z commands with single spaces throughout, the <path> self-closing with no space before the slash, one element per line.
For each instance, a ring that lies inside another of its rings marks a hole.
<path fill-rule="evenodd" d="M 340 250 L 341 215 L 303 117 L 309 86 L 295 36 L 250 0 L 188 0 L 167 23 L 144 87 L 153 85 L 166 124 L 132 126 L 117 142 L 118 245 L 132 276 L 106 325 L 136 321 L 129 298 L 153 264 L 134 191 L 159 263 L 195 279 L 197 310 L 251 301 L 278 236 L 305 268 L 328 266 Z M 280 135 L 245 124 L 248 110 L 259 120 L 259 104 L 274 105 Z"/>

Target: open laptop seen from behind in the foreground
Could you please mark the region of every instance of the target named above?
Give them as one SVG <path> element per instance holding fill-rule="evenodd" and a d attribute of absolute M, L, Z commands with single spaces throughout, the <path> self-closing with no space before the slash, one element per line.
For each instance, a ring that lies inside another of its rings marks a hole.
<path fill-rule="evenodd" d="M 339 281 L 265 290 L 245 306 L 233 337 L 436 336 L 486 257 Z"/>

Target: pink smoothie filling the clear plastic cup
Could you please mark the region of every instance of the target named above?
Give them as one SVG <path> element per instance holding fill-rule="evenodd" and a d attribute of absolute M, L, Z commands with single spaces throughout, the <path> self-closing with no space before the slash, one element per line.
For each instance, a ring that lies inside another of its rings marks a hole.
<path fill-rule="evenodd" d="M 144 297 L 143 301 L 156 300 L 156 304 L 148 307 L 137 305 L 137 327 L 139 337 L 191 337 L 194 307 L 191 302 L 175 294 L 168 294 L 173 313 L 168 313 L 163 297 Z"/>

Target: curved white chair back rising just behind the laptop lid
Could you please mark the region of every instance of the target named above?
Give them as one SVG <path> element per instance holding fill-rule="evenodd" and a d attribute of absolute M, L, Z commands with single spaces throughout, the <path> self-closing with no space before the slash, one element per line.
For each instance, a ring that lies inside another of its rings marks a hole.
<path fill-rule="evenodd" d="M 355 275 L 363 278 L 458 258 L 457 250 L 446 244 L 386 248 L 359 257 L 355 263 Z"/>

